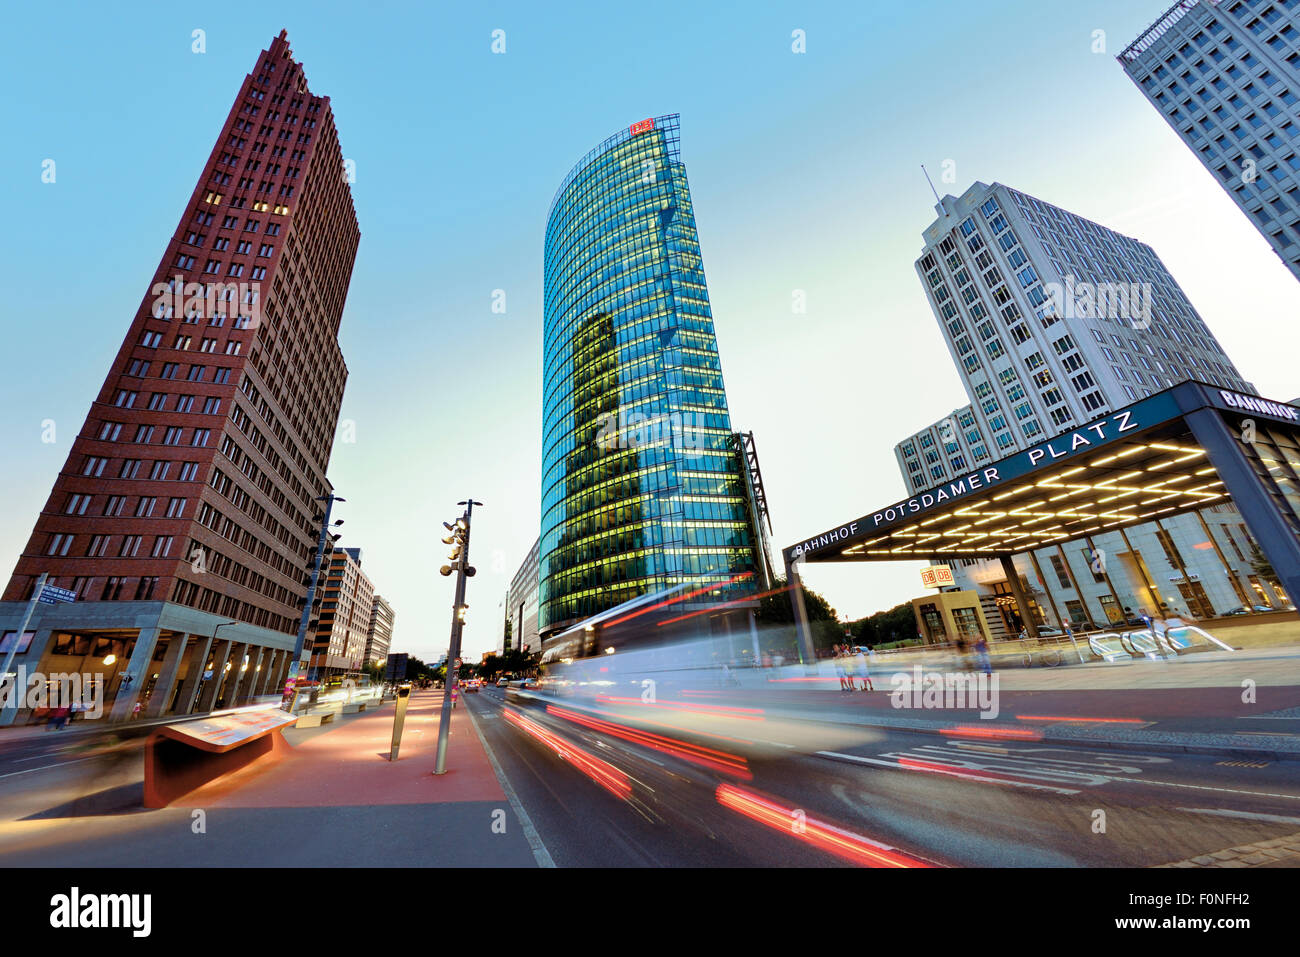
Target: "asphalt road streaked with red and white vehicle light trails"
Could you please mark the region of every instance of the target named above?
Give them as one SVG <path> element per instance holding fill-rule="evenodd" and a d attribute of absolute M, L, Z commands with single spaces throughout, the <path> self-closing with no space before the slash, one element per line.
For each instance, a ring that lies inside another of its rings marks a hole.
<path fill-rule="evenodd" d="M 1300 762 L 815 723 L 794 749 L 464 701 L 562 867 L 1152 866 L 1300 832 Z"/>

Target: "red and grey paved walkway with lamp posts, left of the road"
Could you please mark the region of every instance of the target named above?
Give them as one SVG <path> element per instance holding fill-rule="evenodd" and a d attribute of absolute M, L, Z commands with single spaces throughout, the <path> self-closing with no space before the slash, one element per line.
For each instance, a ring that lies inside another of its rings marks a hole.
<path fill-rule="evenodd" d="M 441 706 L 442 692 L 412 696 L 396 762 L 385 705 L 289 729 L 289 754 L 161 810 L 136 797 L 130 807 L 0 823 L 0 854 L 6 866 L 537 867 L 545 849 L 534 853 L 540 843 L 464 706 L 452 716 L 447 772 L 433 774 Z"/>

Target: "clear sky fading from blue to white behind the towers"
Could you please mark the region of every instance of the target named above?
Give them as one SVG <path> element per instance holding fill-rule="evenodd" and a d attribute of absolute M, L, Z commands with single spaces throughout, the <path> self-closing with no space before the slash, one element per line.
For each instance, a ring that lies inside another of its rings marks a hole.
<path fill-rule="evenodd" d="M 922 163 L 941 191 L 1000 181 L 1150 243 L 1245 377 L 1291 399 L 1300 286 L 1114 60 L 1167 5 L 12 7 L 0 571 L 282 27 L 356 163 L 361 246 L 341 333 L 356 442 L 335 443 L 330 478 L 348 498 L 341 544 L 364 550 L 396 609 L 395 650 L 446 648 L 451 580 L 432 532 L 469 494 L 486 506 L 468 653 L 499 635 L 537 536 L 546 211 L 573 163 L 646 116 L 681 114 L 732 420 L 755 433 L 777 547 L 897 499 L 894 442 L 966 402 L 913 270 L 933 218 Z M 861 616 L 920 593 L 918 567 L 807 579 Z"/>

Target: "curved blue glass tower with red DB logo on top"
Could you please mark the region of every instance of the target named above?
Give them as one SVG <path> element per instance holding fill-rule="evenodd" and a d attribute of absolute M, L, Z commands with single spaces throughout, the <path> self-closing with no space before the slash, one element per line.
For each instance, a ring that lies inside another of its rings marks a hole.
<path fill-rule="evenodd" d="M 542 637 L 670 585 L 753 594 L 677 117 L 610 137 L 546 222 Z"/>

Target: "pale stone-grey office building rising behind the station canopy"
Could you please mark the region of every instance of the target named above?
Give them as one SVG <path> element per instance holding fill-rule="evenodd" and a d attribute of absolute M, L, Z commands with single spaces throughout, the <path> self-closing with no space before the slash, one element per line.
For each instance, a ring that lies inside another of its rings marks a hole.
<path fill-rule="evenodd" d="M 997 183 L 936 212 L 916 272 L 971 404 L 894 447 L 909 494 L 1186 380 L 1257 394 L 1149 246 Z M 1153 590 L 1199 618 L 1283 607 L 1253 545 L 1218 503 L 1014 560 L 1040 623 L 1118 622 Z M 954 576 L 994 633 L 1019 631 L 1000 562 L 962 559 Z"/>

